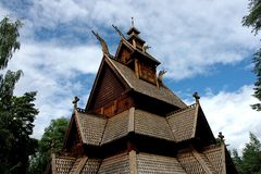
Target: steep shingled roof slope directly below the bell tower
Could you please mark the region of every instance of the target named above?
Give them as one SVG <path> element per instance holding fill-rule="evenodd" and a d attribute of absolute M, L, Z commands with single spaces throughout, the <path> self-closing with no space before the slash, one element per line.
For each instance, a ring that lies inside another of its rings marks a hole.
<path fill-rule="evenodd" d="M 169 88 L 157 87 L 150 83 L 138 79 L 135 73 L 124 64 L 113 60 L 107 59 L 112 66 L 117 71 L 117 73 L 123 77 L 123 79 L 128 84 L 128 86 L 142 95 L 149 96 L 151 98 L 164 101 L 166 103 L 176 105 L 178 108 L 186 108 L 187 105 Z"/>

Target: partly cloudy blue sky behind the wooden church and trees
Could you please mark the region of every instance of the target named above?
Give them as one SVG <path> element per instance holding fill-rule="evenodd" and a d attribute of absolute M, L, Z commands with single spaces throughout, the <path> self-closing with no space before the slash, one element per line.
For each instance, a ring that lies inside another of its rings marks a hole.
<path fill-rule="evenodd" d="M 37 90 L 40 114 L 34 137 L 52 119 L 70 117 L 72 99 L 84 108 L 99 63 L 97 30 L 114 54 L 130 17 L 165 69 L 165 83 L 187 104 L 198 91 L 214 135 L 223 132 L 232 148 L 241 148 L 249 132 L 261 136 L 260 113 L 250 109 L 254 75 L 251 58 L 259 37 L 241 26 L 247 0 L 1 0 L 0 17 L 21 18 L 21 50 L 9 69 L 24 71 L 15 94 Z"/>

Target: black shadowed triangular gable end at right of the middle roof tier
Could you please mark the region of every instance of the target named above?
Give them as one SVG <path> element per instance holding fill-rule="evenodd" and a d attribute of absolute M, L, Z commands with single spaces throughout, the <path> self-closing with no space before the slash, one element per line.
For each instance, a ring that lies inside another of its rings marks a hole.
<path fill-rule="evenodd" d="M 204 113 L 200 107 L 197 104 L 197 123 L 195 127 L 195 140 L 197 146 L 204 147 L 215 142 L 214 135 L 210 128 L 210 125 L 204 116 Z"/>

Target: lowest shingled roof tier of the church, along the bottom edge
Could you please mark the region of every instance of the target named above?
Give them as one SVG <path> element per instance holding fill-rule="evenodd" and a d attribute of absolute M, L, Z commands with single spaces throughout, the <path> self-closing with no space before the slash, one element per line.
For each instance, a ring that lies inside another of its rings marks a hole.
<path fill-rule="evenodd" d="M 223 174 L 226 173 L 225 146 L 212 145 L 197 151 L 181 150 L 176 157 L 146 152 L 122 152 L 104 159 L 58 157 L 52 160 L 55 174 L 84 173 L 159 173 L 159 174 Z M 82 163 L 80 163 L 82 162 Z"/>

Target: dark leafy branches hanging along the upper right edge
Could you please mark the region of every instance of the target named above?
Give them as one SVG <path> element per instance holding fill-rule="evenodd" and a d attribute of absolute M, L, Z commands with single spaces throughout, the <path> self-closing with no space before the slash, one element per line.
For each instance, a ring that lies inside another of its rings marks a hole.
<path fill-rule="evenodd" d="M 261 0 L 249 0 L 249 14 L 243 17 L 243 25 L 252 27 L 254 35 L 258 35 L 261 28 Z M 253 73 L 257 75 L 253 96 L 261 101 L 261 49 L 253 55 Z M 252 104 L 257 111 L 261 111 L 261 103 Z"/>

